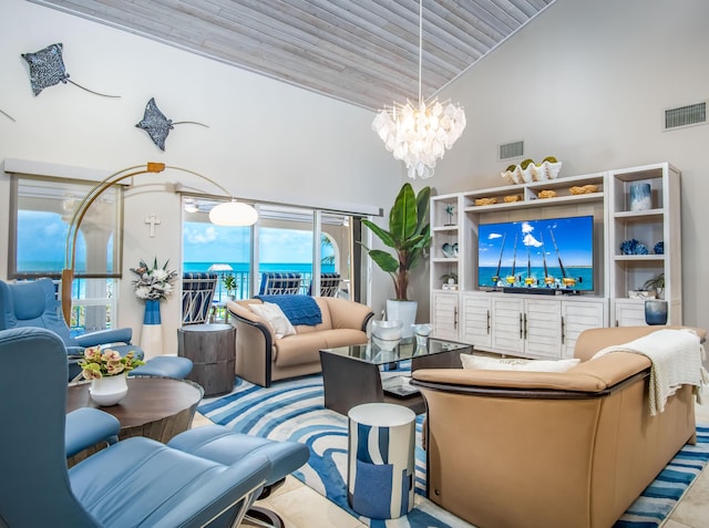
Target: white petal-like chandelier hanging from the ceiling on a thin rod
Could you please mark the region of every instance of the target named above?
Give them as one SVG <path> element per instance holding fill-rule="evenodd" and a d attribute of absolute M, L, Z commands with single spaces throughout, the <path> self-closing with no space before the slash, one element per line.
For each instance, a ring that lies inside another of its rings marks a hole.
<path fill-rule="evenodd" d="M 394 158 L 407 164 L 409 177 L 430 178 L 435 161 L 461 136 L 465 128 L 465 112 L 450 102 L 433 100 L 427 106 L 421 95 L 421 62 L 423 54 L 423 0 L 419 0 L 419 103 L 394 103 L 382 110 L 372 122 L 372 130 L 384 142 Z"/>

